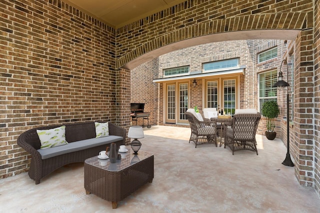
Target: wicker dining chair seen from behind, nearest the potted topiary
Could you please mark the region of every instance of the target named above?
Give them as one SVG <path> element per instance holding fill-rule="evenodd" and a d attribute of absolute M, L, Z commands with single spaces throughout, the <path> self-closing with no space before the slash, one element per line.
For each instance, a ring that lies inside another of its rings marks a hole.
<path fill-rule="evenodd" d="M 260 121 L 260 113 L 254 114 L 236 114 L 232 118 L 232 122 L 224 123 L 224 148 L 228 146 L 232 155 L 238 150 L 250 150 L 256 149 L 255 133 Z"/>

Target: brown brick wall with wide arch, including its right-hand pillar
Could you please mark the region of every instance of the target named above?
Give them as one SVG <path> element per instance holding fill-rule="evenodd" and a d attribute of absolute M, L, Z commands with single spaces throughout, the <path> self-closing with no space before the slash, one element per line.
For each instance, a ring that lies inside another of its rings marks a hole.
<path fill-rule="evenodd" d="M 187 0 L 117 29 L 116 67 L 130 70 L 166 52 L 219 39 L 294 40 L 294 110 L 297 113 L 291 131 L 291 143 L 294 144 L 291 150 L 296 162 L 295 176 L 301 185 L 318 187 L 312 166 L 313 146 L 308 146 L 314 140 L 309 135 L 314 136 L 315 130 L 312 125 L 305 125 L 309 122 L 305 117 L 306 108 L 314 109 L 313 103 L 306 98 L 314 90 L 314 82 L 306 82 L 314 72 L 313 1 L 299 4 L 247 0 L 241 3 L 212 2 L 209 5 L 208 2 Z"/>

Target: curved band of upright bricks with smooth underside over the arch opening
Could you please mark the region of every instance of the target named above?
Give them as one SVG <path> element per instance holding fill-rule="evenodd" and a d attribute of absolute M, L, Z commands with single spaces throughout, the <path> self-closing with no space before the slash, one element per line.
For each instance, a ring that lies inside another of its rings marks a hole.
<path fill-rule="evenodd" d="M 135 48 L 128 48 L 116 60 L 116 66 L 132 69 L 169 51 L 214 41 L 256 38 L 290 40 L 295 38 L 297 31 L 313 27 L 312 20 L 312 12 L 278 12 L 205 21 L 164 33 Z M 227 34 L 221 36 L 220 33 Z M 164 46 L 168 48 L 161 48 Z"/>

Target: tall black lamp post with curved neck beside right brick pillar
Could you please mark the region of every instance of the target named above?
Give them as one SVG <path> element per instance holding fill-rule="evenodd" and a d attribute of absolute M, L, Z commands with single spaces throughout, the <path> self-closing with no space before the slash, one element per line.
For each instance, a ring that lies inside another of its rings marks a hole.
<path fill-rule="evenodd" d="M 285 159 L 282 162 L 282 164 L 284 166 L 294 167 L 294 164 L 291 161 L 290 152 L 289 152 L 289 145 L 290 145 L 290 142 L 289 142 L 289 92 L 288 92 L 289 84 L 287 82 L 283 81 L 283 75 L 282 75 L 282 71 L 281 71 L 283 62 L 286 63 L 286 74 L 288 74 L 288 64 L 287 64 L 286 60 L 282 60 L 281 66 L 280 66 L 280 71 L 279 71 L 279 76 L 278 76 L 278 81 L 275 84 L 273 84 L 272 87 L 279 87 L 279 88 L 286 87 L 286 149 L 287 149 L 287 151 L 286 151 Z"/>

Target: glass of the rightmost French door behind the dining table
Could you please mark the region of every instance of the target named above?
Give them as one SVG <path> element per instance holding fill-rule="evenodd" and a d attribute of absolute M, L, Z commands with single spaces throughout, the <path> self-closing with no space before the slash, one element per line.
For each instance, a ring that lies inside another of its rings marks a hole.
<path fill-rule="evenodd" d="M 223 81 L 223 111 L 234 115 L 235 111 L 235 80 Z"/>

